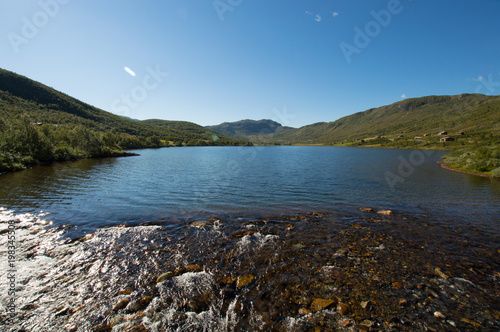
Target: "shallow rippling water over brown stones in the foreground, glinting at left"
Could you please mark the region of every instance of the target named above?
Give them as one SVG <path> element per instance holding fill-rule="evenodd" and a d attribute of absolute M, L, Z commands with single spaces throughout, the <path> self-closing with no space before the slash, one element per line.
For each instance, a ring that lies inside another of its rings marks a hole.
<path fill-rule="evenodd" d="M 498 234 L 379 210 L 188 216 L 73 240 L 43 215 L 0 211 L 0 329 L 500 330 Z"/>

